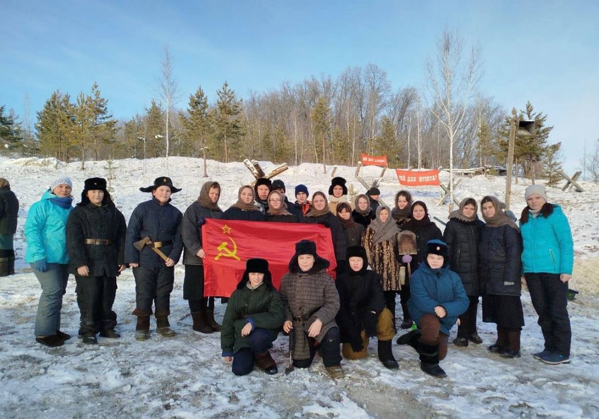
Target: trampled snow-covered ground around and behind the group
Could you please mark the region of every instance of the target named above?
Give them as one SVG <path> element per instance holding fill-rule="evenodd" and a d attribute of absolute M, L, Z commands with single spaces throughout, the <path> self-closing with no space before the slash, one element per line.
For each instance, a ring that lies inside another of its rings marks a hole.
<path fill-rule="evenodd" d="M 165 173 L 165 160 L 119 160 L 111 181 L 114 201 L 128 218 L 139 202 L 149 198 L 140 186 L 152 184 Z M 553 202 L 564 207 L 573 228 L 576 268 L 571 288 L 580 290 L 570 303 L 573 328 L 571 365 L 546 366 L 531 353 L 542 347 L 542 335 L 527 292 L 522 294 L 526 326 L 522 332 L 522 358 L 505 360 L 488 353 L 494 342 L 494 325 L 479 323 L 482 345 L 467 348 L 450 345 L 441 363 L 448 378 L 425 376 L 412 348 L 394 344 L 399 371 L 383 368 L 376 356 L 376 339 L 371 341 L 367 359 L 346 361 L 346 378 L 332 381 L 317 356 L 308 371 L 296 369 L 283 374 L 288 363 L 287 339 L 275 342 L 273 356 L 279 374 L 268 376 L 254 371 L 235 377 L 222 363 L 219 334 L 201 335 L 191 329 L 191 318 L 183 300 L 183 266 L 176 267 L 175 289 L 171 296 L 171 325 L 179 333 L 165 339 L 156 333 L 147 342 L 134 339 L 135 281 L 131 270 L 119 277 L 115 311 L 121 339 L 98 338 L 99 345 L 83 345 L 75 337 L 78 308 L 74 279 L 69 281 L 63 300 L 62 330 L 74 337 L 60 348 L 35 343 L 33 324 L 39 284 L 23 260 L 23 225 L 30 205 L 37 201 L 58 175 L 68 175 L 79 201 L 83 180 L 107 177 L 107 162 L 68 165 L 53 159 L 0 160 L 0 177 L 10 180 L 20 204 L 16 234 L 17 274 L 0 278 L 0 416 L 34 417 L 599 417 L 599 194 L 562 193 L 550 189 Z M 262 163 L 269 168 L 271 163 Z M 171 157 L 170 176 L 180 193 L 173 203 L 184 211 L 199 195 L 201 160 Z M 326 193 L 330 173 L 322 165 L 291 167 L 279 176 L 285 181 L 290 201 L 296 184 L 304 183 L 311 193 Z M 354 168 L 339 166 L 335 175 L 348 180 L 356 193 L 364 187 L 353 178 Z M 380 168 L 364 168 L 362 177 L 374 180 Z M 238 187 L 252 180 L 243 163 L 208 161 L 211 180 L 220 181 L 222 208 L 237 199 Z M 441 181 L 449 178 L 441 173 Z M 593 184 L 582 183 L 588 191 Z M 513 186 L 512 208 L 524 207 L 526 184 Z M 400 189 L 394 171 L 388 171 L 379 185 L 381 198 L 392 204 Z M 464 178 L 456 189 L 458 199 L 477 200 L 494 194 L 503 198 L 504 178 Z M 426 202 L 431 215 L 447 218 L 447 205 L 436 207 L 439 194 L 434 187 L 412 189 L 415 199 Z M 441 229 L 442 225 L 438 224 Z M 224 305 L 217 304 L 217 318 Z M 479 317 L 480 321 L 480 317 Z M 152 324 L 153 327 L 153 324 Z M 450 339 L 455 337 L 455 329 Z"/>

